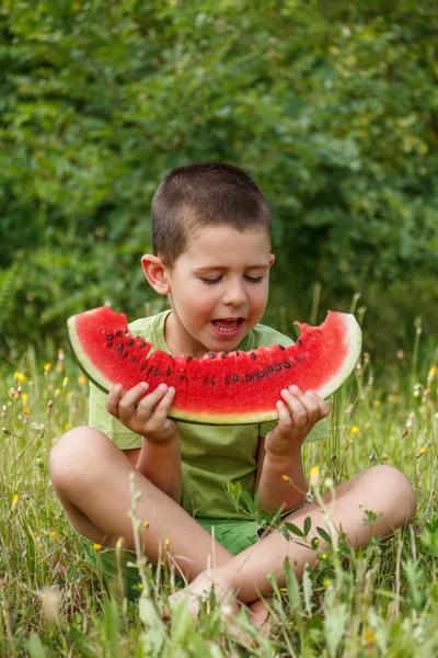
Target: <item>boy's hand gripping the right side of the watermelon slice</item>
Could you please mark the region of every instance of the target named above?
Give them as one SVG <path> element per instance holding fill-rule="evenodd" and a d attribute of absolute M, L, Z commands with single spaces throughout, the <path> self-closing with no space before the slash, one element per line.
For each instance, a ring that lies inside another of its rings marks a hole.
<path fill-rule="evenodd" d="M 277 427 L 265 439 L 266 453 L 272 457 L 286 457 L 301 449 L 313 426 L 325 418 L 330 407 L 319 395 L 302 393 L 298 386 L 281 390 L 283 400 L 277 402 Z"/>

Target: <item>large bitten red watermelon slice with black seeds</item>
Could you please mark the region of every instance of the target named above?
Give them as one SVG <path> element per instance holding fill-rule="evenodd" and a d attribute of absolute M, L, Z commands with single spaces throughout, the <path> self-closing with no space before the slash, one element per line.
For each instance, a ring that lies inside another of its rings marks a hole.
<path fill-rule="evenodd" d="M 203 359 L 149 355 L 150 342 L 132 336 L 126 316 L 103 306 L 68 320 L 71 345 L 85 375 L 102 390 L 122 384 L 128 390 L 148 382 L 175 387 L 169 416 L 209 424 L 258 423 L 278 418 L 280 390 L 296 384 L 325 398 L 351 373 L 361 331 L 350 314 L 328 311 L 319 327 L 296 322 L 295 345 L 252 352 L 209 352 Z"/>

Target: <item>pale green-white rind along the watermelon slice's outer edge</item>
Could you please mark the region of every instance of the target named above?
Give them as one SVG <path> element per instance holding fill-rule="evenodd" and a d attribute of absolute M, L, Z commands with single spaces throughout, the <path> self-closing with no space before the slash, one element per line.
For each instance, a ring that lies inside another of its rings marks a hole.
<path fill-rule="evenodd" d="M 93 313 L 84 311 L 84 313 Z M 332 313 L 332 311 L 328 311 Z M 81 314 L 82 315 L 82 314 Z M 122 315 L 122 314 L 120 314 Z M 331 377 L 320 389 L 314 390 L 320 397 L 327 398 L 330 395 L 335 393 L 346 378 L 351 374 L 361 350 L 361 330 L 353 314 L 337 314 L 343 316 L 345 332 L 344 341 L 348 345 L 347 356 L 344 359 L 342 366 L 338 368 L 336 375 Z M 90 382 L 96 386 L 100 390 L 107 394 L 112 388 L 113 383 L 106 379 L 99 368 L 94 367 L 90 361 L 85 358 L 81 348 L 80 341 L 76 332 L 76 317 L 72 316 L 68 319 L 68 329 L 71 347 L 73 350 L 74 359 Z M 83 359 L 83 361 L 82 361 Z M 268 422 L 278 419 L 278 412 L 276 409 L 269 411 L 254 411 L 251 413 L 205 413 L 205 412 L 189 412 L 182 409 L 170 409 L 169 417 L 174 420 L 181 420 L 185 422 L 192 422 L 197 424 L 256 424 L 261 422 Z"/>

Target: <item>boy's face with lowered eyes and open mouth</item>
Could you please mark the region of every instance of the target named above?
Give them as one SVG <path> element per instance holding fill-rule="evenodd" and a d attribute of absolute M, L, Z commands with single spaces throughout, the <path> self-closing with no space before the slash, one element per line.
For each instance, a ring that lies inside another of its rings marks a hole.
<path fill-rule="evenodd" d="M 274 260 L 263 229 L 203 229 L 165 270 L 173 310 L 165 338 L 172 352 L 199 358 L 237 348 L 264 314 Z"/>

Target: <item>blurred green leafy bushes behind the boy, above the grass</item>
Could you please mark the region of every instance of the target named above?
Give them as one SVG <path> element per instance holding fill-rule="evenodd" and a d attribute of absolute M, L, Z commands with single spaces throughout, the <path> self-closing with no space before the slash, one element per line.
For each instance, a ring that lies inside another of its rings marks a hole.
<path fill-rule="evenodd" d="M 385 359 L 417 315 L 436 342 L 437 25 L 427 0 L 0 0 L 0 347 L 143 314 L 152 193 L 206 159 L 272 204 L 267 321 L 319 282 L 319 319 L 360 292 Z"/>

